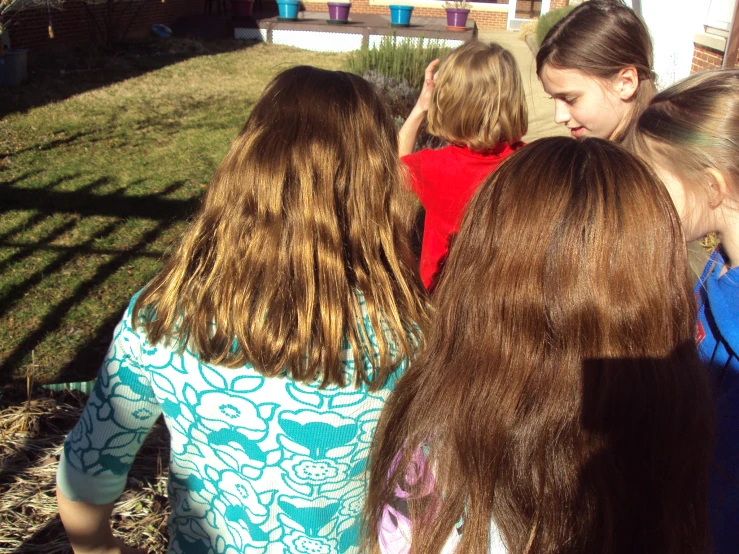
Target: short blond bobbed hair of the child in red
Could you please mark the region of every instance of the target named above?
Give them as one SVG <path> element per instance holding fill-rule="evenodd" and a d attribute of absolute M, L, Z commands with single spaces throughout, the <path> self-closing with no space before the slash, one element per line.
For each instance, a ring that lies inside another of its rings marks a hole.
<path fill-rule="evenodd" d="M 453 50 L 436 75 L 427 121 L 430 134 L 474 151 L 521 140 L 528 110 L 513 55 L 478 41 Z"/>

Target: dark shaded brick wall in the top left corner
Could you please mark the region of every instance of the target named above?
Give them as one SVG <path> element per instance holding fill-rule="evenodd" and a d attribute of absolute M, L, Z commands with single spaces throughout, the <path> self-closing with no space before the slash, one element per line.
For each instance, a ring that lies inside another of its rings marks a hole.
<path fill-rule="evenodd" d="M 120 5 L 119 2 L 117 4 Z M 123 3 L 125 4 L 125 2 Z M 134 2 L 120 15 L 114 30 L 120 34 L 133 19 L 127 37 L 146 36 L 154 23 L 172 25 L 179 17 L 203 13 L 204 0 L 148 0 L 138 12 Z M 49 13 L 46 9 L 25 10 L 14 16 L 8 30 L 13 48 L 29 48 L 33 52 L 69 50 L 89 44 L 105 33 L 105 4 L 93 4 L 87 12 L 79 0 L 66 0 L 61 10 L 51 10 L 54 38 L 49 37 Z M 97 22 L 97 26 L 95 25 Z M 119 38 L 119 37 L 113 37 Z"/>

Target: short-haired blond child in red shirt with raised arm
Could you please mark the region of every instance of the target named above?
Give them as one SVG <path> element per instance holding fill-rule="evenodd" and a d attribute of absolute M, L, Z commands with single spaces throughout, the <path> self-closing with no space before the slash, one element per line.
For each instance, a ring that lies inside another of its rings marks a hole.
<path fill-rule="evenodd" d="M 439 66 L 434 60 L 418 102 L 400 130 L 400 155 L 426 210 L 421 278 L 433 289 L 449 239 L 480 183 L 522 146 L 528 115 L 521 74 L 497 44 L 469 42 Z M 440 150 L 413 152 L 419 127 L 446 141 Z"/>

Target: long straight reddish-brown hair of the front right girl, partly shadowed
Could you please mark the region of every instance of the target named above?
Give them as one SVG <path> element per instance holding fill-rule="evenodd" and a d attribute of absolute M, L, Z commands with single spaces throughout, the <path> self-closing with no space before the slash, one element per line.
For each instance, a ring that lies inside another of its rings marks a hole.
<path fill-rule="evenodd" d="M 707 552 L 712 403 L 667 191 L 621 147 L 536 141 L 470 203 L 427 349 L 382 414 L 366 541 L 396 487 L 413 553 Z M 407 478 L 426 453 L 431 479 Z M 410 472 L 410 473 L 409 473 Z M 415 482 L 415 484 L 414 484 Z"/>

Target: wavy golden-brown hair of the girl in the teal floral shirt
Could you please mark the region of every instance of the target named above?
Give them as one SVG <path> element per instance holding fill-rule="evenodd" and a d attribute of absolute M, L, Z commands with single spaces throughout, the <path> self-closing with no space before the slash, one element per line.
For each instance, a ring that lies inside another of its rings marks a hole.
<path fill-rule="evenodd" d="M 143 316 L 150 341 L 173 340 L 209 363 L 323 384 L 346 384 L 348 340 L 357 384 L 380 387 L 413 357 L 427 319 L 406 194 L 395 126 L 369 83 L 284 71 L 134 322 Z"/>

